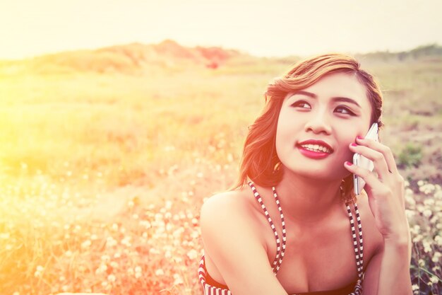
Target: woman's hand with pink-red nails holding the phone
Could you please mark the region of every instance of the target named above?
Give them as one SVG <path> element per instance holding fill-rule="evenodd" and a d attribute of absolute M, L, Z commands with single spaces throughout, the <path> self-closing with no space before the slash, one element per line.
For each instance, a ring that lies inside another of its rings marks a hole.
<path fill-rule="evenodd" d="M 365 180 L 364 190 L 369 196 L 369 206 L 378 230 L 384 241 L 402 245 L 410 243 L 410 228 L 405 215 L 404 179 L 398 173 L 391 150 L 372 139 L 357 137 L 356 142 L 350 144 L 350 150 L 373 161 L 377 176 L 350 162 L 345 162 L 344 166 Z"/>

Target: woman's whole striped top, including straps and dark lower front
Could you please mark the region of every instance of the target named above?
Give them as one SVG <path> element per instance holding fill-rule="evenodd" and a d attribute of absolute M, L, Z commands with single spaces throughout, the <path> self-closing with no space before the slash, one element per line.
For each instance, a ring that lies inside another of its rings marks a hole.
<path fill-rule="evenodd" d="M 261 205 L 261 208 L 263 209 L 263 212 L 265 214 L 265 217 L 267 217 L 267 220 L 270 224 L 270 227 L 273 230 L 273 233 L 275 233 L 275 240 L 276 240 L 276 256 L 275 260 L 273 260 L 273 273 L 276 275 L 277 271 L 280 269 L 282 258 L 284 258 L 285 253 L 285 242 L 287 241 L 286 238 L 286 231 L 285 231 L 285 221 L 284 221 L 284 214 L 282 214 L 282 209 L 280 206 L 280 200 L 277 197 L 276 189 L 275 187 L 272 187 L 273 190 L 273 197 L 275 197 L 275 202 L 277 204 L 277 208 L 280 212 L 281 216 L 281 222 L 282 222 L 282 241 L 280 237 L 278 236 L 278 233 L 275 229 L 275 225 L 273 224 L 273 220 L 270 218 L 270 215 L 268 214 L 267 208 L 265 207 L 263 203 L 263 199 L 256 191 L 256 187 L 253 185 L 253 183 L 249 182 L 249 186 L 251 187 L 251 190 L 253 191 L 253 195 L 255 196 L 256 201 Z M 349 294 L 349 295 L 360 295 L 362 293 L 362 279 L 364 278 L 364 265 L 363 265 L 363 244 L 362 244 L 362 224 L 361 224 L 361 218 L 359 216 L 359 210 L 357 208 L 356 202 L 354 203 L 354 212 L 356 213 L 356 221 L 357 221 L 357 227 L 359 232 L 359 237 L 357 237 L 357 233 L 354 228 L 354 216 L 352 214 L 352 210 L 350 209 L 350 204 L 345 204 L 347 207 L 347 213 L 350 219 L 350 227 L 352 229 L 352 236 L 353 236 L 353 247 L 354 247 L 354 255 L 356 257 L 356 267 L 358 272 L 358 279 L 357 281 L 353 282 L 352 284 L 348 285 L 347 287 L 337 289 L 337 290 L 331 290 L 331 291 L 319 291 L 319 292 L 309 292 L 309 293 L 301 293 L 303 295 L 338 295 L 338 294 Z M 357 243 L 357 238 L 359 238 L 359 246 Z M 210 274 L 208 274 L 207 270 L 205 269 L 205 258 L 204 255 L 201 258 L 200 265 L 198 268 L 198 278 L 203 286 L 204 295 L 232 295 L 232 293 L 229 291 L 228 287 L 226 285 L 220 284 L 216 282 L 212 277 L 210 277 Z M 299 295 L 299 294 L 293 294 L 293 295 Z"/>

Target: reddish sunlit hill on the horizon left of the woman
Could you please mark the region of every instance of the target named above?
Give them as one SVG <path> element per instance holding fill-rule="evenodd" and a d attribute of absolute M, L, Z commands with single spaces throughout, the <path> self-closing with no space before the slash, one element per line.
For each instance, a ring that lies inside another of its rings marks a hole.
<path fill-rule="evenodd" d="M 159 44 L 132 43 L 97 50 L 75 50 L 44 54 L 32 59 L 0 61 L 0 74 L 68 74 L 72 72 L 140 73 L 155 68 L 179 66 L 207 66 L 217 68 L 232 57 L 242 54 L 238 50 L 222 47 L 184 47 L 173 40 Z"/>

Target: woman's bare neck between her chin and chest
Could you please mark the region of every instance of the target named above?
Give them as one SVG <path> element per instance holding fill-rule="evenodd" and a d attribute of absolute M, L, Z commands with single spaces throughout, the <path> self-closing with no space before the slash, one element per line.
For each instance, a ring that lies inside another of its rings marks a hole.
<path fill-rule="evenodd" d="M 340 197 L 341 180 L 318 180 L 285 171 L 276 186 L 284 216 L 300 225 L 326 219 L 344 206 Z"/>

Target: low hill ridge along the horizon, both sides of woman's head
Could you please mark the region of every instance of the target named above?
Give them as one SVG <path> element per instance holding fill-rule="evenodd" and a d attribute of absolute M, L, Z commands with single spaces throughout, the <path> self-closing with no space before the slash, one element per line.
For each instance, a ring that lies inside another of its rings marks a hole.
<path fill-rule="evenodd" d="M 370 52 L 354 54 L 362 63 L 434 62 L 442 60 L 442 47 L 424 45 L 406 52 Z M 96 50 L 74 50 L 44 54 L 31 59 L 0 61 L 0 76 L 14 74 L 119 73 L 151 74 L 164 69 L 217 69 L 220 66 L 260 71 L 269 64 L 291 64 L 299 57 L 253 57 L 239 50 L 222 47 L 184 47 L 174 40 L 145 45 L 131 43 Z M 289 60 L 290 62 L 287 62 Z M 261 68 L 260 68 L 261 66 Z"/>

